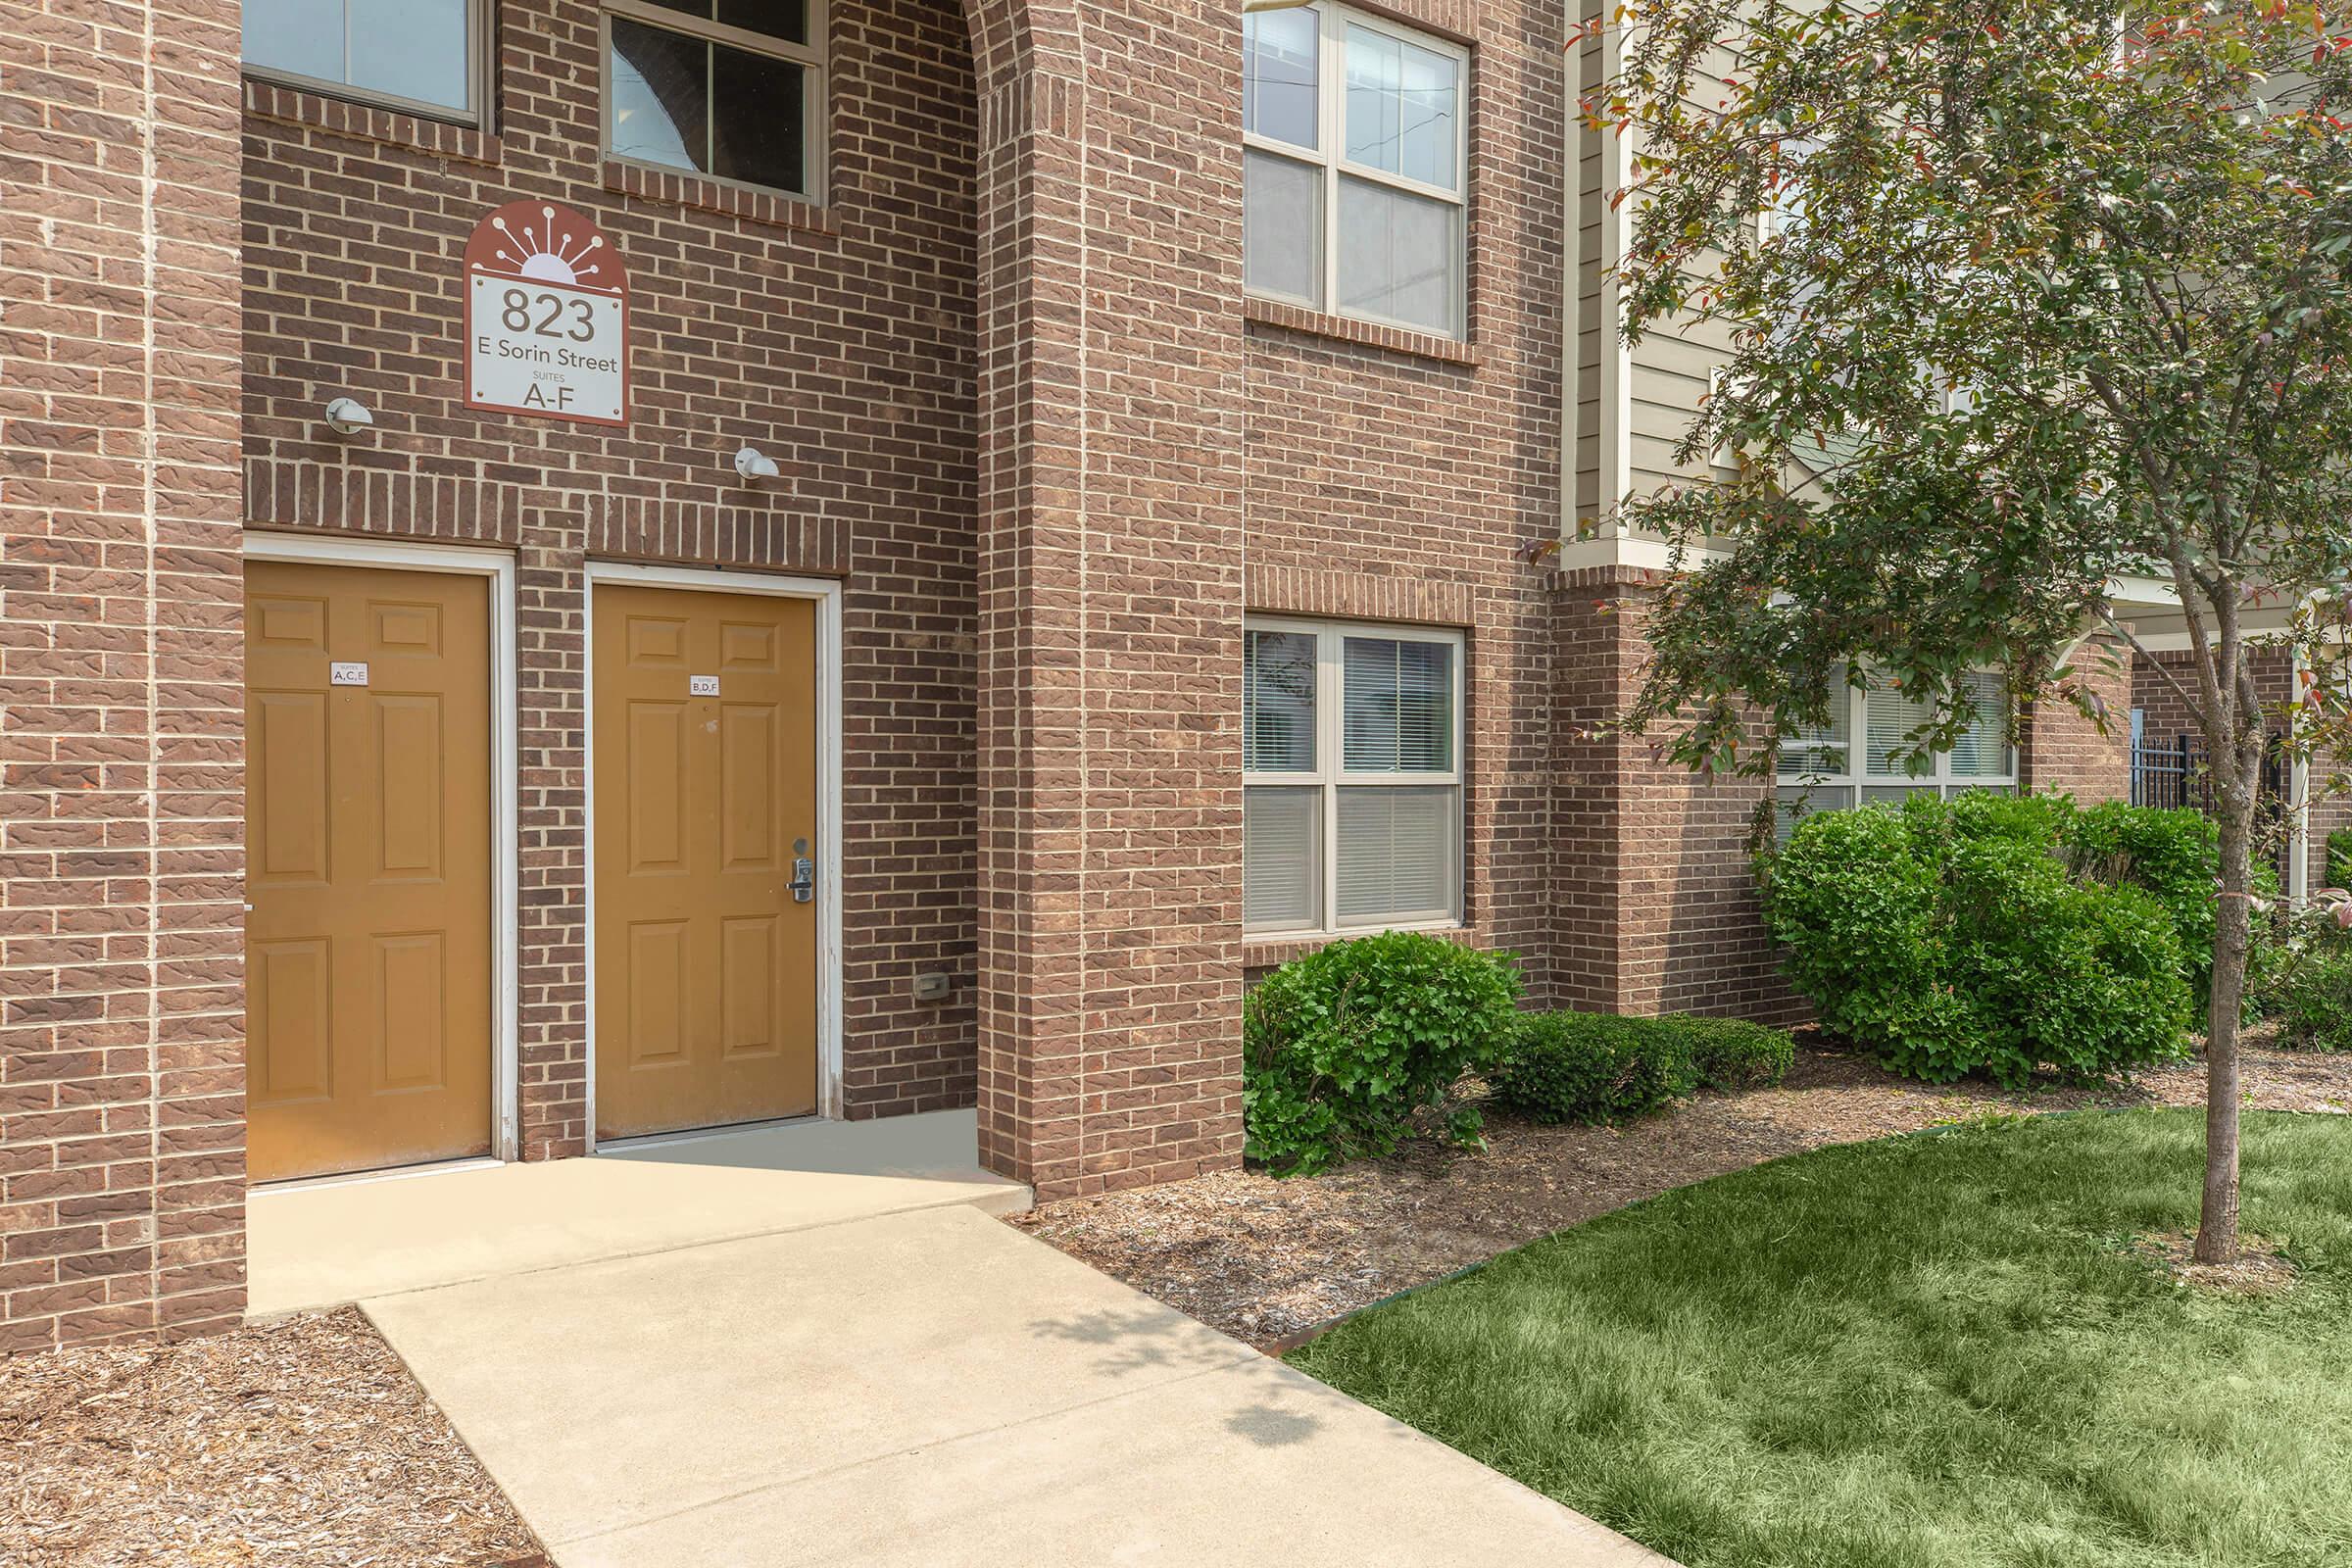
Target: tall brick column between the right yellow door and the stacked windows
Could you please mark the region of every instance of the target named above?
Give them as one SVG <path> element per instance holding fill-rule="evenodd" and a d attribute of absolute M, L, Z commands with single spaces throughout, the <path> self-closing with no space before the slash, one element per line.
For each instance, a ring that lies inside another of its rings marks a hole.
<path fill-rule="evenodd" d="M 1240 14 L 974 0 L 981 1157 L 1240 1159 Z"/>

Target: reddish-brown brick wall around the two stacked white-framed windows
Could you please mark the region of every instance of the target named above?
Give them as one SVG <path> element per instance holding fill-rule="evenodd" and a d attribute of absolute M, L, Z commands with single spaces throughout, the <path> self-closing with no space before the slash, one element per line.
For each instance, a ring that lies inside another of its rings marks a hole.
<path fill-rule="evenodd" d="M 1468 632 L 1468 922 L 1543 994 L 1552 611 L 1529 548 L 1559 534 L 1562 19 L 1383 9 L 1472 45 L 1470 341 L 1247 306 L 1249 609 Z"/>

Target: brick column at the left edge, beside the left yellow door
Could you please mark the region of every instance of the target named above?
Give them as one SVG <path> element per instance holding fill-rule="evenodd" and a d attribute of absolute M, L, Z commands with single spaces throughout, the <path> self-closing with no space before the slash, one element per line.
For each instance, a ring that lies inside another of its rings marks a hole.
<path fill-rule="evenodd" d="M 0 1349 L 245 1305 L 238 47 L 0 38 Z"/>

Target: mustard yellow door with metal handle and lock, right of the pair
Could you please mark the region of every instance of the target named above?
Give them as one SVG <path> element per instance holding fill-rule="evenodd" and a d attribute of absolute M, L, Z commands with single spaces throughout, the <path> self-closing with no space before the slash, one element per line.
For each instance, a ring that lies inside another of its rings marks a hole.
<path fill-rule="evenodd" d="M 816 1110 L 816 607 L 595 590 L 595 1128 Z"/>

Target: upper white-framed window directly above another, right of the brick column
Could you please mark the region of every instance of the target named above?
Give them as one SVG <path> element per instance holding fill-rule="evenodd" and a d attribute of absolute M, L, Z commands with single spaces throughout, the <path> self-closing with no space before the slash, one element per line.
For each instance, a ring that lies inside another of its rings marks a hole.
<path fill-rule="evenodd" d="M 1468 336 L 1470 52 L 1334 0 L 1242 14 L 1242 284 Z"/>

